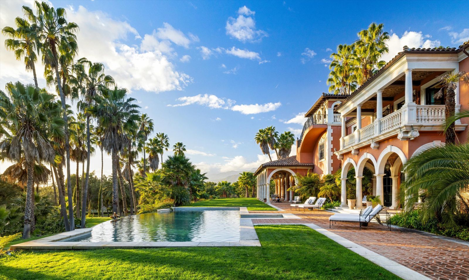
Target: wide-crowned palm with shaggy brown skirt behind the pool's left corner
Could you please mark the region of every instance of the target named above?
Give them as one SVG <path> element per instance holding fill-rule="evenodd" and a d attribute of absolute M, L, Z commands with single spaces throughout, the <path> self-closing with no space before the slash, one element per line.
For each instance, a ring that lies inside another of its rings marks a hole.
<path fill-rule="evenodd" d="M 134 104 L 135 98 L 127 98 L 125 88 L 102 88 L 101 95 L 93 97 L 94 103 L 86 111 L 98 119 L 103 130 L 103 148 L 111 153 L 113 169 L 113 211 L 118 205 L 118 168 L 119 152 L 128 146 L 129 138 L 125 133 L 127 127 L 135 125 L 139 119 L 140 106 Z M 125 193 L 122 193 L 125 197 Z"/>

